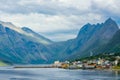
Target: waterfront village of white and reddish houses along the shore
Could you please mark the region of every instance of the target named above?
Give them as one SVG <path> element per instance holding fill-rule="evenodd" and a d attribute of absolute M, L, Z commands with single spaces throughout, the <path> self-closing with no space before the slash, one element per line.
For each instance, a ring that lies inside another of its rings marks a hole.
<path fill-rule="evenodd" d="M 107 55 L 109 58 L 113 58 L 114 55 Z M 89 57 L 90 58 L 90 57 Z M 110 70 L 119 70 L 120 69 L 120 56 L 114 56 L 113 60 L 106 59 L 106 56 L 103 58 L 97 57 L 95 59 L 83 59 L 77 61 L 55 61 L 53 64 L 54 67 L 63 68 L 63 69 L 110 69 Z"/>

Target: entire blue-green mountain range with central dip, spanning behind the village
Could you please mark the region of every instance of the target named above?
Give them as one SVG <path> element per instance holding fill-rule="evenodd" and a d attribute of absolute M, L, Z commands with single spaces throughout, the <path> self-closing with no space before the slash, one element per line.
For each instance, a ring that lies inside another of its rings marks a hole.
<path fill-rule="evenodd" d="M 86 24 L 75 39 L 53 42 L 23 27 L 0 21 L 0 60 L 16 64 L 51 63 L 104 53 L 119 52 L 120 31 L 111 18 Z"/>

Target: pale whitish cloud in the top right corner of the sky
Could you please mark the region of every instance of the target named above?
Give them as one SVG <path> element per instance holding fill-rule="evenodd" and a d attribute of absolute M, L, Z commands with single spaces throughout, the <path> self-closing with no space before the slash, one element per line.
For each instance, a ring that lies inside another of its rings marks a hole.
<path fill-rule="evenodd" d="M 109 0 L 105 1 L 104 0 L 94 0 L 93 1 L 93 7 L 94 9 L 98 9 L 100 12 L 103 14 L 109 13 L 109 14 L 120 14 L 120 1 L 119 0 Z"/>

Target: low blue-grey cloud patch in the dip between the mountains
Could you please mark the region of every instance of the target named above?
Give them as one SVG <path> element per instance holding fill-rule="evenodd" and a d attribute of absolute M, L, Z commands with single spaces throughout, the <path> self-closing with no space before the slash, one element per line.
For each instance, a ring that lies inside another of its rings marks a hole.
<path fill-rule="evenodd" d="M 53 41 L 66 41 L 71 38 L 76 38 L 79 30 L 73 29 L 73 30 L 59 30 L 54 32 L 45 32 L 41 33 L 43 36 L 48 37 L 49 39 Z"/>

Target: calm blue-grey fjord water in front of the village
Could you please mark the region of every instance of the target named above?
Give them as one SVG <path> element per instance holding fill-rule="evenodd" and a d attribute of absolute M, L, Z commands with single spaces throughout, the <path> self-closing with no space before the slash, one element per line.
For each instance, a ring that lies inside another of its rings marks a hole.
<path fill-rule="evenodd" d="M 119 72 L 57 68 L 0 68 L 0 80 L 120 80 Z"/>

